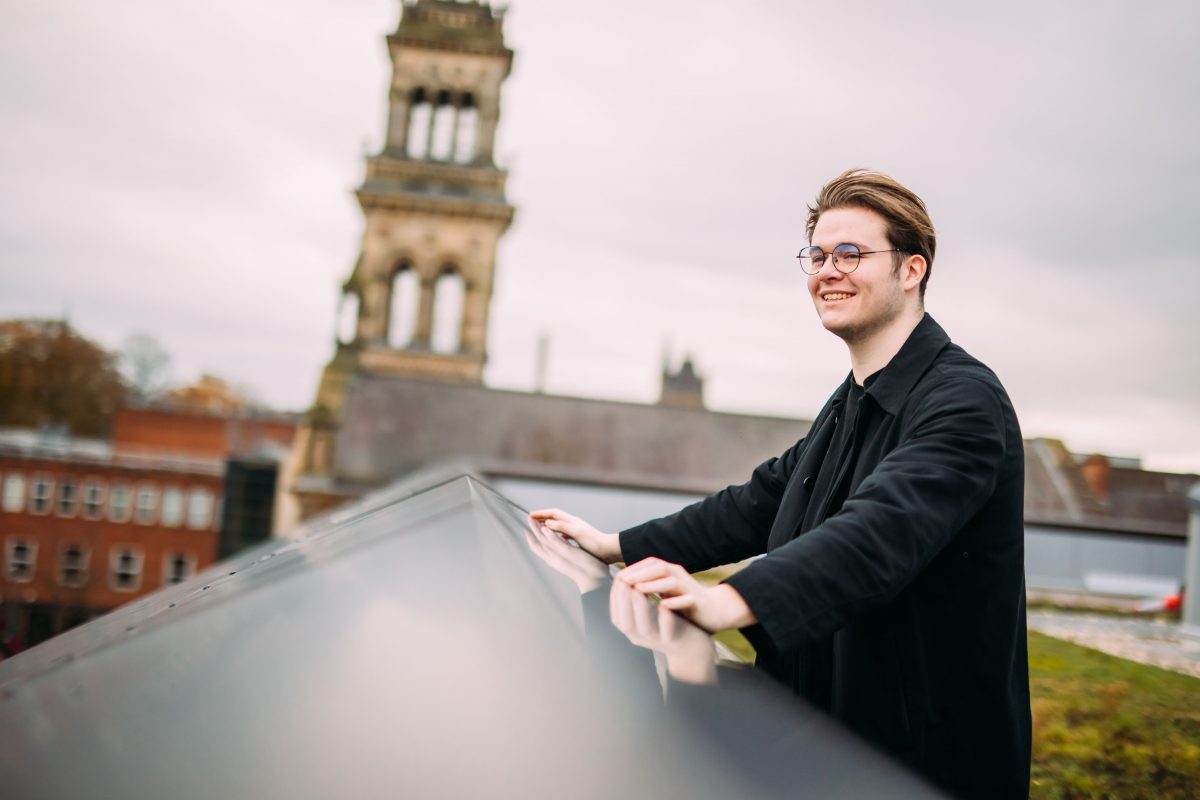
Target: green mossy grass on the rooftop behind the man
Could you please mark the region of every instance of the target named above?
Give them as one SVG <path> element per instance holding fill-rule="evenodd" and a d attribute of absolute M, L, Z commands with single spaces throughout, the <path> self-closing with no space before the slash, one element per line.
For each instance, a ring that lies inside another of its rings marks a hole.
<path fill-rule="evenodd" d="M 1200 679 L 1030 631 L 1030 694 L 1031 798 L 1200 798 Z"/>

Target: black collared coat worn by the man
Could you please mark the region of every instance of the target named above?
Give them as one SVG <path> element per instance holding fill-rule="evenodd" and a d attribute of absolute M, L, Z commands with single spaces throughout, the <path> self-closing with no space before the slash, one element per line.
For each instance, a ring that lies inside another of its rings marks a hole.
<path fill-rule="evenodd" d="M 746 483 L 623 531 L 622 553 L 692 572 L 767 553 L 727 581 L 761 668 L 958 796 L 1027 796 L 1013 407 L 926 314 L 866 387 L 854 469 L 812 497 L 850 380 Z"/>

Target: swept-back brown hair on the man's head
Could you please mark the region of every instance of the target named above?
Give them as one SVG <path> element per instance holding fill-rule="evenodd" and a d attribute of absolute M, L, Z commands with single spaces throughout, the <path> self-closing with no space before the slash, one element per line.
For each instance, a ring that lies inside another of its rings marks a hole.
<path fill-rule="evenodd" d="M 937 234 L 925 203 L 890 175 L 860 167 L 847 169 L 822 186 L 816 201 L 809 206 L 805 228 L 809 241 L 812 241 L 812 229 L 817 227 L 822 213 L 830 209 L 852 207 L 868 209 L 883 217 L 888 241 L 893 247 L 910 255 L 924 257 L 925 277 L 920 279 L 920 297 L 924 299 L 925 284 L 934 271 L 934 252 L 937 249 Z M 894 255 L 893 264 L 899 270 L 900 253 Z"/>

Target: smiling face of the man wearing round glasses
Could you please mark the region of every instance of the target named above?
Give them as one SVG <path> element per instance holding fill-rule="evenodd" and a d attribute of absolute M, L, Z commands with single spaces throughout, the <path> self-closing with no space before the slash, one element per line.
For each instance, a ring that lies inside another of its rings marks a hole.
<path fill-rule="evenodd" d="M 817 219 L 812 245 L 832 253 L 838 245 L 857 245 L 868 251 L 892 249 L 883 217 L 868 209 L 830 209 Z M 847 344 L 863 342 L 887 327 L 905 309 L 905 291 L 893 275 L 894 253 L 864 255 L 858 269 L 846 275 L 832 258 L 809 276 L 809 294 L 826 330 Z"/>

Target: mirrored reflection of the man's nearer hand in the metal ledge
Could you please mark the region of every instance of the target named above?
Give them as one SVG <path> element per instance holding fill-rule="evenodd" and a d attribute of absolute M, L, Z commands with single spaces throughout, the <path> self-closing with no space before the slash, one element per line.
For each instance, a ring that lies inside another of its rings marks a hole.
<path fill-rule="evenodd" d="M 674 612 L 658 607 L 628 583 L 613 581 L 608 610 L 618 631 L 640 648 L 664 654 L 667 672 L 689 684 L 716 682 L 716 649 L 713 640 Z"/>

